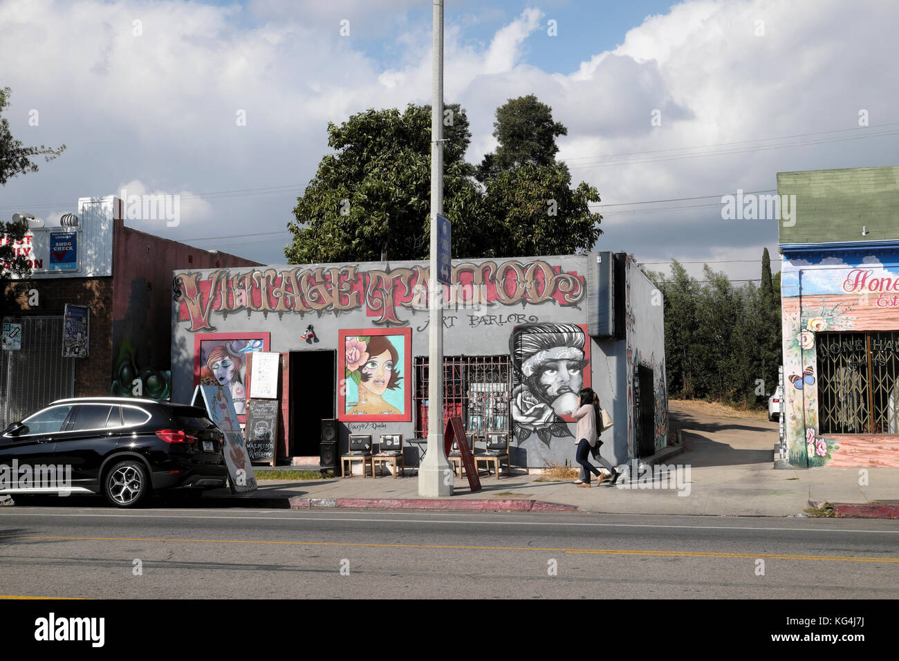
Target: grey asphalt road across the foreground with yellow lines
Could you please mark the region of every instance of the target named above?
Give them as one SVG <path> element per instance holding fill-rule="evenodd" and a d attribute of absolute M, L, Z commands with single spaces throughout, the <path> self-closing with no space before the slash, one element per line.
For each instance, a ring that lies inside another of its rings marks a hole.
<path fill-rule="evenodd" d="M 0 593 L 895 599 L 897 549 L 889 521 L 17 506 Z"/>

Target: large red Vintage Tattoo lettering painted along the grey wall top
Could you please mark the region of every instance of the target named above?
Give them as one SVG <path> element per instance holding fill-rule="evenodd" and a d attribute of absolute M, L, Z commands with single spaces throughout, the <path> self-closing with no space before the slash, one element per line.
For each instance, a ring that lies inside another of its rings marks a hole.
<path fill-rule="evenodd" d="M 428 308 L 424 266 L 360 271 L 358 265 L 334 267 L 257 268 L 240 272 L 179 273 L 174 299 L 178 319 L 190 322 L 191 333 L 215 330 L 212 313 L 249 312 L 338 314 L 364 309 L 374 324 L 405 326 L 402 310 Z M 576 307 L 586 295 L 586 280 L 576 272 L 545 260 L 458 264 L 452 287 L 444 288 L 444 305 L 460 308 L 515 306 L 553 302 Z"/>

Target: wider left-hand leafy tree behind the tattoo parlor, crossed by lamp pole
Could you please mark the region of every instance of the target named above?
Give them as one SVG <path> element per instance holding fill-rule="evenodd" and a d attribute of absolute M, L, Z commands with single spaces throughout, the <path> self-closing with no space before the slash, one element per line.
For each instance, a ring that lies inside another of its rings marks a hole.
<path fill-rule="evenodd" d="M 445 122 L 443 213 L 454 244 L 466 246 L 478 228 L 480 195 L 465 160 L 471 138 L 458 104 Z M 340 126 L 328 123 L 328 145 L 315 178 L 297 200 L 291 264 L 423 259 L 430 250 L 431 106 L 405 112 L 369 109 Z"/>

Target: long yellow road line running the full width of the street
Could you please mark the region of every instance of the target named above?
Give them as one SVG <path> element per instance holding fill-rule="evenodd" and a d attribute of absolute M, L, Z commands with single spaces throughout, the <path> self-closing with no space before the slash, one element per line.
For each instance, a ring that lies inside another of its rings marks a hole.
<path fill-rule="evenodd" d="M 454 546 L 449 544 L 372 544 L 343 541 L 275 541 L 275 540 L 191 540 L 153 537 L 61 537 L 50 535 L 0 535 L 0 539 L 16 540 L 76 540 L 76 541 L 161 541 L 211 542 L 218 544 L 284 544 L 288 546 L 370 547 L 375 549 L 459 549 L 459 550 L 530 550 L 556 553 L 592 553 L 610 556 L 663 556 L 685 558 L 776 558 L 785 560 L 831 560 L 839 562 L 894 562 L 899 558 L 856 558 L 852 556 L 804 556 L 786 553 L 722 553 L 717 551 L 666 551 L 644 549 L 548 549 L 530 546 Z"/>

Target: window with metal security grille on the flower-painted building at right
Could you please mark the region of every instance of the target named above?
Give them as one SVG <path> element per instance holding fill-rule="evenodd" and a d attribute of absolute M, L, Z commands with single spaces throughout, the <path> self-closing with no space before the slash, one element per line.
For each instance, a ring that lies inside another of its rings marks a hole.
<path fill-rule="evenodd" d="M 899 433 L 899 332 L 821 333 L 815 344 L 821 432 Z"/>

